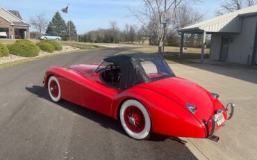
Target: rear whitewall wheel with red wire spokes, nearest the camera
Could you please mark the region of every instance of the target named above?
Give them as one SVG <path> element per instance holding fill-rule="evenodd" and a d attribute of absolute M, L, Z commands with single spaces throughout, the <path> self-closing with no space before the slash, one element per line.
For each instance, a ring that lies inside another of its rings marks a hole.
<path fill-rule="evenodd" d="M 132 138 L 147 139 L 151 132 L 151 119 L 147 109 L 140 102 L 129 99 L 122 104 L 119 119 L 126 133 Z"/>

